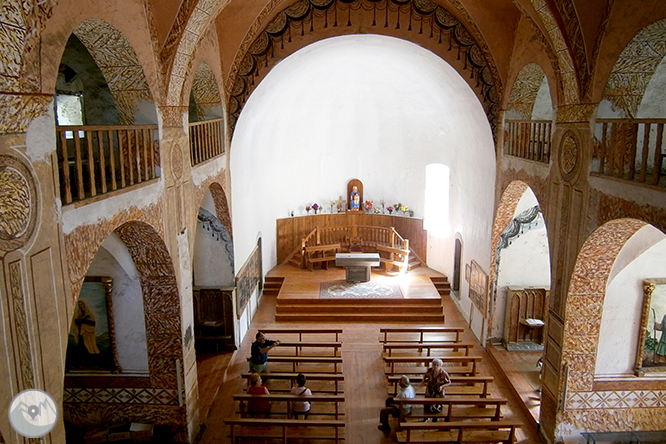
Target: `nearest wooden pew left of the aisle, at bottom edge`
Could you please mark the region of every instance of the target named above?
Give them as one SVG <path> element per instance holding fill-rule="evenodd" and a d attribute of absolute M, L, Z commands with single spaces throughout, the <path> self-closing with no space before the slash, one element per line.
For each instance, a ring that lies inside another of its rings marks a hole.
<path fill-rule="evenodd" d="M 230 426 L 231 443 L 243 438 L 282 439 L 286 444 L 294 438 L 344 440 L 344 421 L 313 419 L 254 419 L 230 418 L 224 421 Z"/>

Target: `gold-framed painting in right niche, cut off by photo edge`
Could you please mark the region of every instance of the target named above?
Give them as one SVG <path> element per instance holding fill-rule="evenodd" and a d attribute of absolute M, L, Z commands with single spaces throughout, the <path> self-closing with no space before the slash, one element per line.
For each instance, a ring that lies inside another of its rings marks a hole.
<path fill-rule="evenodd" d="M 666 372 L 666 279 L 643 281 L 643 313 L 635 373 Z"/>

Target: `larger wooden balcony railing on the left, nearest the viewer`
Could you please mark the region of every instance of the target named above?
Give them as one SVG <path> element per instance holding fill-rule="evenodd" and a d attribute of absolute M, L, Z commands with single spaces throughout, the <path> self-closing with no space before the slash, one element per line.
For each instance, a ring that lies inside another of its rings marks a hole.
<path fill-rule="evenodd" d="M 57 126 L 63 204 L 159 177 L 157 125 Z"/>

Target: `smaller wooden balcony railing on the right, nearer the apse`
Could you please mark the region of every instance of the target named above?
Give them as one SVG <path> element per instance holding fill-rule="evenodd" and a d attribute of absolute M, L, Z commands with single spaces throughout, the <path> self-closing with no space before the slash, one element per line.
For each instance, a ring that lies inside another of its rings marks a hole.
<path fill-rule="evenodd" d="M 504 154 L 548 164 L 552 125 L 550 120 L 507 120 Z"/>

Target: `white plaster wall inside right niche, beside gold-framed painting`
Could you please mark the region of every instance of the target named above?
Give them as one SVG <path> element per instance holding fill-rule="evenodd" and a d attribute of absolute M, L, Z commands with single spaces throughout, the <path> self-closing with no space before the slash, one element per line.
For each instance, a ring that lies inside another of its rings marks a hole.
<path fill-rule="evenodd" d="M 651 245 L 646 248 L 646 242 Z M 643 308 L 643 280 L 666 277 L 666 236 L 652 226 L 639 230 L 613 265 L 620 267 L 606 289 L 597 378 L 632 376 L 638 351 Z"/>

